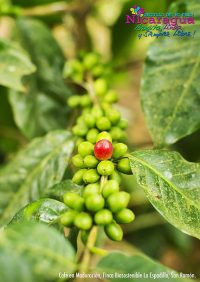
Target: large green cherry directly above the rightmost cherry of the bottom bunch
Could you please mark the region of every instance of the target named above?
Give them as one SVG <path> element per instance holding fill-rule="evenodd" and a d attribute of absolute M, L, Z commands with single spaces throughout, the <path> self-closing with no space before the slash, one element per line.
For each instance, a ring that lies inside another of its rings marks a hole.
<path fill-rule="evenodd" d="M 112 212 L 117 212 L 127 207 L 130 195 L 127 192 L 116 192 L 107 199 L 107 205 Z"/>

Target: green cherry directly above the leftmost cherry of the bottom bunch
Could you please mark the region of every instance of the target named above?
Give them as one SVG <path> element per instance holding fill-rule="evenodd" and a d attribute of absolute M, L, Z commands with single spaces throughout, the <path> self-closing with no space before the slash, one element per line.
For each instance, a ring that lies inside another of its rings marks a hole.
<path fill-rule="evenodd" d="M 82 211 L 84 208 L 84 199 L 76 193 L 67 192 L 64 196 L 64 203 L 71 209 Z"/>

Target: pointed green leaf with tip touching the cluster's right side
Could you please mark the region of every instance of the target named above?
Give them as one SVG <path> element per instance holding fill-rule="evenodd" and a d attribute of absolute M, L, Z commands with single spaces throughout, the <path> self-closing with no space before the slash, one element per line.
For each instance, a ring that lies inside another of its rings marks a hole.
<path fill-rule="evenodd" d="M 200 164 L 165 150 L 137 151 L 130 161 L 152 205 L 171 224 L 200 239 Z"/>

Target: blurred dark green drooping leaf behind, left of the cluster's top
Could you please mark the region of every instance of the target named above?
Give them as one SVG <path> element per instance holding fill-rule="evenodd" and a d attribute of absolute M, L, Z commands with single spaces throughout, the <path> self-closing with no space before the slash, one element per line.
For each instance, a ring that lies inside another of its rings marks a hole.
<path fill-rule="evenodd" d="M 26 77 L 26 93 L 9 95 L 16 124 L 28 138 L 66 128 L 71 94 L 62 78 L 64 55 L 50 30 L 39 20 L 20 18 L 16 38 L 26 49 L 37 72 Z"/>

